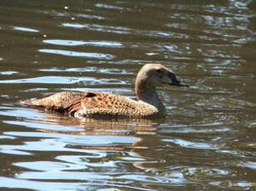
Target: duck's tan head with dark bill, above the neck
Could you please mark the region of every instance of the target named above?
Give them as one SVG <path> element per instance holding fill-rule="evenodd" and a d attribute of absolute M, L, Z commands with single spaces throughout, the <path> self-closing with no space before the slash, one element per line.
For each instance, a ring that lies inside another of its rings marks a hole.
<path fill-rule="evenodd" d="M 187 86 L 178 81 L 173 71 L 161 64 L 146 64 L 138 72 L 135 81 L 137 88 L 155 89 L 158 86 Z"/>

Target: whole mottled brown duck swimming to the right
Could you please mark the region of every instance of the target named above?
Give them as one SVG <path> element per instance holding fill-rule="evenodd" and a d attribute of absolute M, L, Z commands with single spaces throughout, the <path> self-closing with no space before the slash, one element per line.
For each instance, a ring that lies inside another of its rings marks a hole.
<path fill-rule="evenodd" d="M 138 71 L 135 80 L 137 100 L 100 91 L 61 91 L 22 103 L 78 118 L 154 118 L 166 113 L 157 93 L 160 86 L 188 87 L 166 66 L 148 63 Z"/>

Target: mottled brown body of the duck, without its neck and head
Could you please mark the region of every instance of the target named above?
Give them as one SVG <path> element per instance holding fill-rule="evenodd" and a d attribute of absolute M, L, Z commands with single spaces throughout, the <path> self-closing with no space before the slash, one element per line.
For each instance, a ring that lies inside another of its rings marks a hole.
<path fill-rule="evenodd" d="M 25 103 L 78 117 L 143 118 L 158 113 L 157 108 L 143 101 L 98 91 L 63 91 L 43 99 L 27 100 Z"/>

